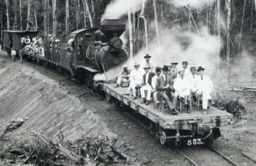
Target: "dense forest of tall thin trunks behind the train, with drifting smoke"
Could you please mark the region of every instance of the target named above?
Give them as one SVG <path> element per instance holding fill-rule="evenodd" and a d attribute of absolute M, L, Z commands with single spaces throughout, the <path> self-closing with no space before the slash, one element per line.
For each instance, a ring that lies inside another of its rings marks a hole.
<path fill-rule="evenodd" d="M 74 30 L 99 27 L 102 19 L 123 19 L 127 31 L 122 39 L 131 57 L 142 50 L 161 54 L 152 50 L 158 46 L 162 51 L 171 49 L 166 54 L 172 58 L 191 54 L 200 60 L 201 52 L 209 56 L 214 52 L 217 64 L 229 65 L 245 50 L 253 55 L 256 49 L 255 0 L 1 0 L 0 4 L 1 30 L 38 30 L 43 37 L 51 34 L 62 41 Z"/>

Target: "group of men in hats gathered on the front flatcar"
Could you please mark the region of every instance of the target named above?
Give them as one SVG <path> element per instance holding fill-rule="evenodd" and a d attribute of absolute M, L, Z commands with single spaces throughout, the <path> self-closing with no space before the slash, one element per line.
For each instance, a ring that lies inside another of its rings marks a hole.
<path fill-rule="evenodd" d="M 140 89 L 142 103 L 149 104 L 151 95 L 154 102 L 159 106 L 159 101 L 164 100 L 170 109 L 170 113 L 176 115 L 177 100 L 184 100 L 185 108 L 191 113 L 189 104 L 190 97 L 201 98 L 203 102 L 203 113 L 208 109 L 208 101 L 211 101 L 212 81 L 208 75 L 204 75 L 205 68 L 191 66 L 188 68 L 188 62 L 182 62 L 182 68 L 176 68 L 178 62 L 172 62 L 164 65 L 163 68 L 155 67 L 149 60 L 151 56 L 145 55 L 143 64 L 144 71 L 137 62 L 134 69 L 129 70 L 124 65 L 118 75 L 117 86 L 122 82 L 129 81 L 129 87 L 124 95 L 132 92 L 132 100 L 138 98 L 136 88 Z"/>

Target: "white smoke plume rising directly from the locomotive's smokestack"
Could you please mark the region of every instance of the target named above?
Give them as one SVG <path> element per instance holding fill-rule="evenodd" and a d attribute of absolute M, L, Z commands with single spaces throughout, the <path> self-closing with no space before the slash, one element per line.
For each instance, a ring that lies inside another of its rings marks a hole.
<path fill-rule="evenodd" d="M 120 19 L 122 15 L 128 13 L 128 10 L 131 13 L 140 10 L 143 2 L 146 3 L 147 0 L 115 0 L 113 3 L 109 3 L 101 20 Z"/>

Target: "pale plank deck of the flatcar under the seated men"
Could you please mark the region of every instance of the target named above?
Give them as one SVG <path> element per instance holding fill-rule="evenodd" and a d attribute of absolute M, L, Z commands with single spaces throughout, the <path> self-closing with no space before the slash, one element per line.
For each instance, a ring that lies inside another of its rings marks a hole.
<path fill-rule="evenodd" d="M 221 111 L 215 107 L 210 107 L 207 114 L 203 114 L 202 109 L 198 110 L 195 106 L 192 107 L 191 113 L 187 113 L 185 110 L 181 111 L 179 115 L 171 115 L 168 109 L 158 109 L 154 106 L 153 102 L 149 105 L 141 104 L 141 98 L 131 100 L 131 96 L 123 95 L 127 91 L 127 88 L 114 87 L 115 84 L 104 85 L 104 91 L 116 98 L 123 104 L 131 107 L 138 113 L 149 118 L 155 123 L 158 123 L 163 129 L 191 129 L 192 123 L 207 124 L 212 127 L 221 127 L 228 124 L 232 120 L 231 113 Z"/>

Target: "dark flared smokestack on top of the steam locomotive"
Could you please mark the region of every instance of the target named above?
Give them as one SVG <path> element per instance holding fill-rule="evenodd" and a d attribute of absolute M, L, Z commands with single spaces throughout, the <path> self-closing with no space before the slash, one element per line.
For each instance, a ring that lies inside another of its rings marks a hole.
<path fill-rule="evenodd" d="M 107 39 L 112 39 L 116 35 L 120 37 L 125 32 L 125 24 L 120 19 L 105 19 L 100 30 Z"/>

